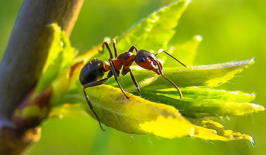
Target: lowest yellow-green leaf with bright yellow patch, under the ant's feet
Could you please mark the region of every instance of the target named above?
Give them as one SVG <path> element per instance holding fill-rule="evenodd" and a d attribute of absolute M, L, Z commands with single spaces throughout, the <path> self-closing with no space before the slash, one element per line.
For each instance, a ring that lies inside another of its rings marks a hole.
<path fill-rule="evenodd" d="M 101 90 L 101 92 L 94 93 L 98 90 Z M 87 89 L 87 93 L 101 122 L 118 131 L 134 134 L 152 134 L 169 139 L 181 136 L 222 141 L 247 139 L 252 145 L 255 144 L 251 136 L 232 130 L 224 130 L 223 125 L 218 122 L 188 119 L 194 123 L 194 125 L 191 125 L 172 106 L 150 102 L 127 93 L 130 97 L 129 101 L 124 97 L 120 89 L 112 86 L 100 85 L 91 87 Z M 82 98 L 82 91 L 75 96 Z M 251 99 L 252 97 L 246 98 Z M 74 107 L 74 110 L 67 109 L 73 109 L 72 107 Z M 77 111 L 75 107 L 77 108 L 77 104 L 76 106 L 65 104 L 57 107 L 52 111 L 50 118 L 81 115 L 81 112 Z M 82 108 L 95 118 L 95 115 L 84 100 L 82 101 Z"/>

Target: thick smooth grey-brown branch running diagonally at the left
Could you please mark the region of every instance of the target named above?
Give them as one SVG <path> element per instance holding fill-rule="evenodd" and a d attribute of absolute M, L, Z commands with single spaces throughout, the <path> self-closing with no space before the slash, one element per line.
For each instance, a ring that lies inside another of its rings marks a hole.
<path fill-rule="evenodd" d="M 24 0 L 0 64 L 0 129 L 14 128 L 10 121 L 14 109 L 40 77 L 51 44 L 47 24 L 58 23 L 69 36 L 82 3 L 83 0 Z"/>

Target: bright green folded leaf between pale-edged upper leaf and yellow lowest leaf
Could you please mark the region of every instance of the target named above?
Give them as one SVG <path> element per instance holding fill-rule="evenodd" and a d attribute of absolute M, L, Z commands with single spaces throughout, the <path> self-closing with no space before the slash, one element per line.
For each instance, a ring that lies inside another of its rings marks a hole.
<path fill-rule="evenodd" d="M 263 106 L 248 103 L 255 99 L 255 94 L 200 87 L 186 87 L 181 90 L 182 100 L 173 88 L 144 91 L 142 95 L 148 100 L 172 105 L 184 116 L 191 118 L 241 116 L 265 110 Z"/>

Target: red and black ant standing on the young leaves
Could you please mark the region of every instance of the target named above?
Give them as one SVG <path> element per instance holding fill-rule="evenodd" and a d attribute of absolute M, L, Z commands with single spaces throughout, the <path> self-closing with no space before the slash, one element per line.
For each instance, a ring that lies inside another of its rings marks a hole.
<path fill-rule="evenodd" d="M 115 57 L 113 57 L 112 51 L 111 51 L 110 46 L 109 46 L 107 41 L 103 41 L 101 52 L 104 51 L 105 46 L 106 46 L 106 48 L 110 54 L 110 58 L 108 59 L 110 65 L 108 64 L 107 61 L 104 61 L 104 63 L 103 63 L 102 60 L 100 60 L 98 58 L 94 58 L 82 67 L 81 72 L 80 72 L 80 77 L 79 77 L 80 83 L 83 85 L 83 92 L 84 92 L 84 96 L 86 98 L 86 101 L 87 101 L 90 109 L 95 114 L 96 118 L 98 119 L 99 125 L 103 131 L 105 131 L 105 130 L 102 128 L 100 119 L 97 116 L 97 114 L 95 113 L 95 111 L 93 110 L 92 103 L 90 102 L 90 99 L 89 99 L 85 89 L 89 88 L 89 87 L 102 85 L 109 78 L 114 76 L 115 81 L 117 82 L 118 86 L 120 87 L 122 93 L 125 95 L 125 97 L 127 99 L 129 99 L 129 97 L 126 95 L 123 88 L 121 87 L 120 83 L 118 82 L 118 77 L 120 76 L 120 70 L 122 69 L 121 74 L 123 76 L 125 76 L 128 72 L 130 73 L 131 79 L 132 79 L 134 85 L 136 86 L 136 89 L 138 90 L 139 97 L 141 97 L 139 84 L 138 84 L 137 80 L 135 79 L 135 77 L 134 77 L 134 75 L 130 69 L 130 66 L 132 65 L 132 63 L 134 61 L 140 67 L 147 69 L 147 70 L 152 70 L 156 74 L 161 75 L 162 77 L 167 79 L 179 92 L 180 99 L 182 98 L 182 93 L 178 89 L 178 87 L 170 79 L 166 78 L 163 75 L 163 72 L 162 72 L 163 66 L 157 60 L 156 56 L 158 54 L 164 52 L 167 55 L 169 55 L 170 57 L 172 57 L 173 59 L 175 59 L 176 61 L 178 61 L 181 65 L 186 67 L 186 65 L 184 65 L 182 62 L 180 62 L 177 58 L 175 58 L 174 56 L 172 56 L 168 52 L 164 51 L 163 49 L 159 49 L 157 54 L 153 54 L 153 53 L 147 51 L 146 49 L 140 49 L 139 50 L 136 46 L 132 46 L 128 50 L 128 52 L 125 52 L 125 53 L 118 55 L 115 39 L 113 39 L 113 47 L 114 47 L 114 52 L 115 52 Z M 133 53 L 134 49 L 136 51 L 136 55 L 134 55 L 134 53 Z M 123 68 L 122 68 L 122 66 L 123 66 Z M 108 74 L 107 74 L 106 78 L 103 78 L 105 72 L 108 72 Z"/>

